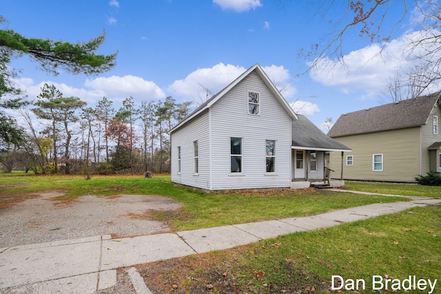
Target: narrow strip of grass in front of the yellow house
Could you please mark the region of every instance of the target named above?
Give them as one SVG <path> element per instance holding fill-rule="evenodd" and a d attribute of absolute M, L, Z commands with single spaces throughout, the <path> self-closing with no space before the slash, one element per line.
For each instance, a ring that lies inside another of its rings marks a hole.
<path fill-rule="evenodd" d="M 403 196 L 441 198 L 441 187 L 384 182 L 345 182 L 347 189 Z"/>

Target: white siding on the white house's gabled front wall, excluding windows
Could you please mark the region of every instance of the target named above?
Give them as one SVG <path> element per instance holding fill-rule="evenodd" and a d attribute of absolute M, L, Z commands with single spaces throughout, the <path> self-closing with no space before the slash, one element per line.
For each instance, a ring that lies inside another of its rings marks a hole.
<path fill-rule="evenodd" d="M 247 111 L 249 91 L 259 93 L 260 115 Z M 256 72 L 210 108 L 212 189 L 291 187 L 291 117 Z M 274 130 L 277 129 L 277 132 Z M 243 175 L 230 171 L 230 138 L 242 138 Z M 265 140 L 277 141 L 277 174 L 266 176 Z"/>

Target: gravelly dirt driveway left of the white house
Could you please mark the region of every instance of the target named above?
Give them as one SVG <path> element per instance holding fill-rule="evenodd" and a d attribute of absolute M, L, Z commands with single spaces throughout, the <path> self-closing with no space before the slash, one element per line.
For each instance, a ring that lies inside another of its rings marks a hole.
<path fill-rule="evenodd" d="M 52 199 L 62 194 L 40 193 L 0 209 L 0 248 L 94 235 L 127 237 L 166 232 L 170 228 L 149 220 L 148 212 L 181 207 L 162 196 L 81 196 L 68 203 Z"/>

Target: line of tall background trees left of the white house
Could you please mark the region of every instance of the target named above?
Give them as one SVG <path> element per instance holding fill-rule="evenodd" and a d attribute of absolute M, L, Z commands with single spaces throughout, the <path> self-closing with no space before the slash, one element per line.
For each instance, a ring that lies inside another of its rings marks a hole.
<path fill-rule="evenodd" d="M 9 142 L 0 153 L 0 163 L 8 172 L 86 177 L 170 172 L 169 132 L 189 114 L 190 104 L 168 96 L 136 105 L 130 96 L 114 109 L 113 102 L 103 97 L 92 108 L 45 84 L 37 101 L 19 110 L 25 120 L 19 127 L 24 140 Z"/>

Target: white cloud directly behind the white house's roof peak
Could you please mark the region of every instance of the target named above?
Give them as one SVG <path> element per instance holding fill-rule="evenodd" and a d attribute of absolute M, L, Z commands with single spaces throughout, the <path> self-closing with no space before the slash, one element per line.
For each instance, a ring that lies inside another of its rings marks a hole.
<path fill-rule="evenodd" d="M 211 94 L 216 94 L 232 83 L 240 74 L 243 74 L 245 70 L 247 70 L 245 67 L 239 65 L 218 63 L 213 67 L 195 70 L 184 79 L 175 81 L 168 87 L 168 90 L 177 96 L 201 103 L 207 98 L 205 89 L 209 90 Z M 291 85 L 289 71 L 283 65 L 271 65 L 263 67 L 263 70 L 285 98 L 289 99 L 296 94 L 296 88 Z"/>

